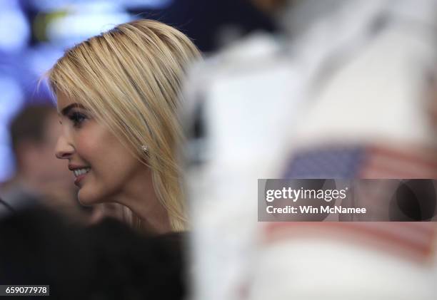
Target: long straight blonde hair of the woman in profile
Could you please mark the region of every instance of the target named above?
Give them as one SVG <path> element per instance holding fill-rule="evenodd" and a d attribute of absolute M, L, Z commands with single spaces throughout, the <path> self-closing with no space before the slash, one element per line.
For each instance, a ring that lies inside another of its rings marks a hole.
<path fill-rule="evenodd" d="M 151 168 L 156 195 L 176 231 L 186 229 L 187 222 L 175 151 L 182 138 L 181 81 L 186 66 L 199 57 L 180 31 L 138 20 L 70 48 L 47 73 L 55 94 L 89 108 Z M 134 215 L 130 219 L 139 221 Z"/>

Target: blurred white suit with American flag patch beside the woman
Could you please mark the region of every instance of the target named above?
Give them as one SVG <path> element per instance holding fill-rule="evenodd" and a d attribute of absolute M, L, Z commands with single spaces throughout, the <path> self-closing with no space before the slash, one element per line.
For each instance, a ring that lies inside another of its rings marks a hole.
<path fill-rule="evenodd" d="M 257 222 L 259 178 L 437 179 L 436 1 L 333 2 L 191 72 L 193 299 L 436 298 L 433 223 Z"/>

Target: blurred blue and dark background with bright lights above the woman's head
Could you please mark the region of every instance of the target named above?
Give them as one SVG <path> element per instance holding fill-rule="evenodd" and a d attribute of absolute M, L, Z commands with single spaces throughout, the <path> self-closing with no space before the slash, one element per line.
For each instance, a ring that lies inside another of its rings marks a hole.
<path fill-rule="evenodd" d="M 134 19 L 176 26 L 204 53 L 275 31 L 247 0 L 0 0 L 0 183 L 14 175 L 8 125 L 29 103 L 53 103 L 39 79 L 66 48 Z M 37 88 L 38 87 L 38 88 Z"/>

